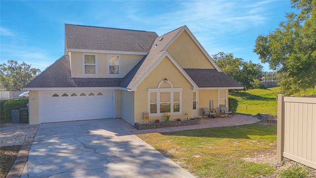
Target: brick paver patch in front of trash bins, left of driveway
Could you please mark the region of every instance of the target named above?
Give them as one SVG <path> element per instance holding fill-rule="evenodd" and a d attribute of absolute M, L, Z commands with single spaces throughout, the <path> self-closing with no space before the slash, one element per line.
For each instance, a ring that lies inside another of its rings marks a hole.
<path fill-rule="evenodd" d="M 1 124 L 0 146 L 32 143 L 40 125 Z"/>

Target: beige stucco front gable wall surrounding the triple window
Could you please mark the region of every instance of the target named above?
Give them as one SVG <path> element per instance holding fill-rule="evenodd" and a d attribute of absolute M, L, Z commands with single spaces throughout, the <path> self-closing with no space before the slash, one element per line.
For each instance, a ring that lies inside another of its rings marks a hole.
<path fill-rule="evenodd" d="M 173 88 L 182 88 L 182 114 L 171 115 L 170 119 L 184 118 L 184 113 L 189 111 L 189 117 L 193 113 L 193 89 L 189 81 L 175 67 L 175 65 L 165 57 L 158 66 L 145 78 L 137 87 L 135 93 L 135 123 L 144 123 L 144 112 L 148 112 L 148 89 L 157 89 L 158 84 L 164 78 L 172 83 Z M 168 84 L 162 84 L 160 88 L 169 87 Z M 150 121 L 156 119 L 164 121 L 163 116 L 150 116 Z"/>

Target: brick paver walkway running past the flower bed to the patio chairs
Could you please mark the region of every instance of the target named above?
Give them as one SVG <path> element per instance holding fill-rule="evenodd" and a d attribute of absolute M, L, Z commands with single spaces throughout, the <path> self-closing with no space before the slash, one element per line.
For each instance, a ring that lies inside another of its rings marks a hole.
<path fill-rule="evenodd" d="M 148 129 L 148 130 L 137 130 L 136 128 L 126 123 L 122 119 L 118 119 L 118 122 L 121 125 L 123 125 L 126 129 L 128 129 L 132 134 L 148 134 L 148 133 L 186 131 L 186 130 L 193 130 L 193 129 L 205 129 L 205 128 L 214 128 L 214 127 L 239 126 L 239 125 L 253 124 L 253 123 L 259 122 L 259 119 L 253 116 L 237 114 L 231 118 L 227 116 L 225 118 L 210 118 L 210 119 L 200 118 L 200 122 L 198 125 Z"/>

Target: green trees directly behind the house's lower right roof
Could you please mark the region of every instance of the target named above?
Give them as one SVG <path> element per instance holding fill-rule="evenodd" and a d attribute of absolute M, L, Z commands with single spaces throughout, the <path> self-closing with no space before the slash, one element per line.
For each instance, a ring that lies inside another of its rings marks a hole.
<path fill-rule="evenodd" d="M 212 59 L 226 75 L 243 85 L 244 89 L 266 88 L 259 81 L 263 75 L 262 65 L 244 61 L 242 58 L 234 58 L 232 53 L 224 52 L 212 55 Z"/>

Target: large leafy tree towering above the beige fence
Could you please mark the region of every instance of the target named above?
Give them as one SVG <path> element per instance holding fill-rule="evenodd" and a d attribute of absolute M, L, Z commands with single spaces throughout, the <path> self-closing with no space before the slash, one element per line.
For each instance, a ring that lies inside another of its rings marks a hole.
<path fill-rule="evenodd" d="M 316 0 L 291 0 L 299 14 L 287 13 L 286 21 L 256 39 L 255 53 L 277 71 L 284 94 L 316 87 Z"/>

